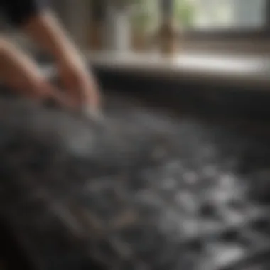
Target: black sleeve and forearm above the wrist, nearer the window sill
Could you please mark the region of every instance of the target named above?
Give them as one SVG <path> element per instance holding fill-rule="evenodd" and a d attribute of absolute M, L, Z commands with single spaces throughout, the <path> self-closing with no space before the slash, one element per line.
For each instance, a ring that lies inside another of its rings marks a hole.
<path fill-rule="evenodd" d="M 70 56 L 75 46 L 48 9 L 46 0 L 0 0 L 9 21 L 28 33 L 57 60 Z"/>

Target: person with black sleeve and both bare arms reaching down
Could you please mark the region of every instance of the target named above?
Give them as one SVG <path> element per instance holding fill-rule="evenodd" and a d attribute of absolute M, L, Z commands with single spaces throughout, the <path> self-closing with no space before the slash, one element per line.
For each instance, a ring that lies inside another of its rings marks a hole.
<path fill-rule="evenodd" d="M 56 0 L 57 1 L 57 0 Z M 76 107 L 99 107 L 99 90 L 79 50 L 72 43 L 45 0 L 0 0 L 0 9 L 13 26 L 20 28 L 53 56 L 63 90 L 53 86 L 38 65 L 16 44 L 0 36 L 0 80 L 18 94 L 32 99 L 47 97 Z"/>

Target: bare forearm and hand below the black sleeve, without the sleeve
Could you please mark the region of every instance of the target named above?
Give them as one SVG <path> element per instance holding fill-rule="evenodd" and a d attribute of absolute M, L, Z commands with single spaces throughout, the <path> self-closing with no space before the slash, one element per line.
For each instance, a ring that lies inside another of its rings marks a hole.
<path fill-rule="evenodd" d="M 100 97 L 95 76 L 50 9 L 32 16 L 23 29 L 41 48 L 53 55 L 63 87 L 72 100 L 76 104 L 99 107 Z"/>

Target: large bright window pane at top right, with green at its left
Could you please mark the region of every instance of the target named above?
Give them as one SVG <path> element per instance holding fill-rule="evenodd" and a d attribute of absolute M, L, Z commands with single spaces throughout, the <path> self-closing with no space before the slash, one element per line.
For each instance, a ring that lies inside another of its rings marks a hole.
<path fill-rule="evenodd" d="M 175 18 L 193 30 L 256 30 L 266 24 L 267 0 L 175 0 Z"/>

